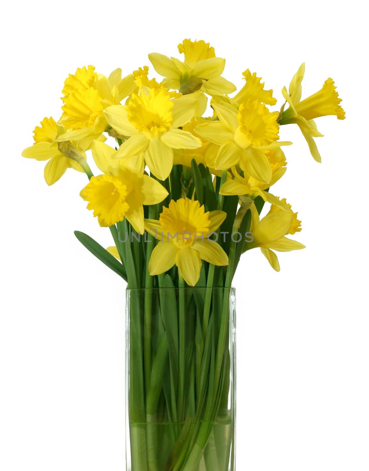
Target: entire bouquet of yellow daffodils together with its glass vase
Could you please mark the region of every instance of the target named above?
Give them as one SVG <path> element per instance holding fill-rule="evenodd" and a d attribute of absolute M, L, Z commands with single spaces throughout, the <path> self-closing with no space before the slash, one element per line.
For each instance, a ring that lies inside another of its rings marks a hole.
<path fill-rule="evenodd" d="M 147 66 L 123 78 L 77 69 L 61 118 L 44 118 L 22 155 L 48 161 L 48 185 L 68 168 L 84 172 L 80 196 L 112 234 L 104 249 L 75 232 L 128 283 L 127 469 L 226 471 L 235 463 L 233 275 L 249 250 L 279 271 L 274 251 L 304 248 L 288 237 L 301 230 L 297 213 L 271 188 L 291 144 L 279 129 L 297 124 L 320 162 L 313 120 L 345 113 L 330 78 L 301 100 L 304 64 L 273 110 L 256 73 L 243 72 L 233 95 L 214 48 L 184 40 L 178 49 L 184 61 L 149 54 L 162 81 Z"/>

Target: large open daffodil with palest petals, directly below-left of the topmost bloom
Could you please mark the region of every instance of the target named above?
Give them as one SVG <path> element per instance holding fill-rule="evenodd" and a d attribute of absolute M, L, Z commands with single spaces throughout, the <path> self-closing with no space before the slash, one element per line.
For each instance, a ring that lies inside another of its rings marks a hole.
<path fill-rule="evenodd" d="M 141 87 L 128 105 L 108 107 L 104 113 L 109 124 L 129 137 L 115 158 L 124 160 L 136 155 L 140 162 L 145 160 L 158 179 L 166 179 L 173 166 L 173 149 L 201 146 L 199 138 L 178 129 L 193 117 L 195 103 L 190 96 L 171 100 L 164 89 Z"/>

